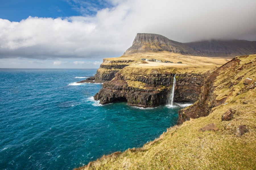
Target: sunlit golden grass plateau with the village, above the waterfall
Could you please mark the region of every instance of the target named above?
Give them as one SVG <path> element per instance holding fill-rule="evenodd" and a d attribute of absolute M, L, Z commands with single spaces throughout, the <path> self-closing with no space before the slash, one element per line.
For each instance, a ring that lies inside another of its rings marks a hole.
<path fill-rule="evenodd" d="M 145 59 L 157 59 L 162 61 L 172 61 L 173 63 L 164 62 L 152 62 L 152 61 L 141 61 Z M 220 67 L 230 59 L 226 58 L 210 58 L 200 56 L 183 56 L 181 54 L 175 54 L 170 52 L 160 53 L 147 53 L 147 54 L 130 54 L 124 55 L 119 58 L 107 58 L 108 61 L 114 60 L 134 60 L 134 62 L 128 63 L 129 66 L 125 67 L 122 71 L 125 74 L 141 74 L 147 75 L 152 72 L 154 73 L 203 73 L 210 69 Z M 181 64 L 177 62 L 181 61 Z M 104 63 L 110 64 L 110 63 Z M 120 63 L 121 64 L 121 63 Z M 102 70 L 103 71 L 103 70 Z M 106 69 L 104 70 L 106 71 Z"/>

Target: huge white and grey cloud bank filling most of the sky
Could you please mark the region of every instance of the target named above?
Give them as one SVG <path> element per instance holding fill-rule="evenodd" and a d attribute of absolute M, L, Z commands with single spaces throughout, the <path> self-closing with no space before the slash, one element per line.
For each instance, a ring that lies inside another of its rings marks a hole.
<path fill-rule="evenodd" d="M 117 57 L 131 46 L 136 33 L 157 33 L 179 42 L 256 40 L 255 0 L 108 1 L 115 6 L 95 16 L 0 19 L 0 58 Z"/>

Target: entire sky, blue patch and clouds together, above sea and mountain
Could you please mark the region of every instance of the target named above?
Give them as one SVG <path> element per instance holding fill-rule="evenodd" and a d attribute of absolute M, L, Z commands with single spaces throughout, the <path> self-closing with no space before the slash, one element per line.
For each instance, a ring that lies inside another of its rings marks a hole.
<path fill-rule="evenodd" d="M 256 41 L 255 0 L 0 0 L 0 68 L 98 68 L 137 33 Z"/>

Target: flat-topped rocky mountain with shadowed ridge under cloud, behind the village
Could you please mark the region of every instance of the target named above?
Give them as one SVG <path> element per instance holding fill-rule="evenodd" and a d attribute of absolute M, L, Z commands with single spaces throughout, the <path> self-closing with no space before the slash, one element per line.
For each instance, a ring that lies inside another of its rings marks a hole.
<path fill-rule="evenodd" d="M 181 43 L 162 35 L 138 33 L 126 54 L 168 51 L 190 56 L 230 57 L 254 54 L 256 41 L 211 40 Z"/>

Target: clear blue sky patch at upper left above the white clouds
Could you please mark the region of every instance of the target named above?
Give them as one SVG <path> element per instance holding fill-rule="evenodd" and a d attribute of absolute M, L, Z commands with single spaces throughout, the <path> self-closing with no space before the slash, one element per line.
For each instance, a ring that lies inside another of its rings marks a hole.
<path fill-rule="evenodd" d="M 112 7 L 111 4 L 95 0 L 1 0 L 0 18 L 19 22 L 32 17 L 69 17 L 95 15 L 98 10 Z"/>

